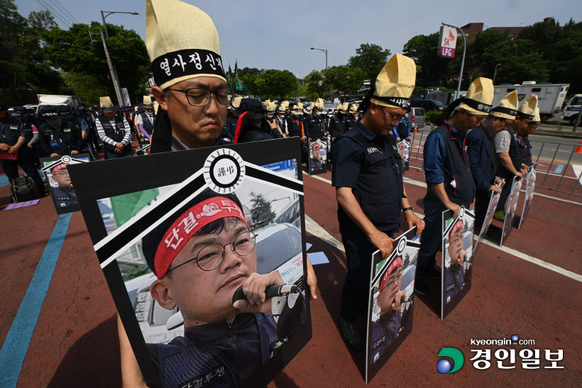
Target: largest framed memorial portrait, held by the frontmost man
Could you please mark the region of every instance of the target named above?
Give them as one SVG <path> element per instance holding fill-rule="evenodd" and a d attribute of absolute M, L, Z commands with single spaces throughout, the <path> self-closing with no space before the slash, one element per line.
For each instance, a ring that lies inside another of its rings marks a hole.
<path fill-rule="evenodd" d="M 263 387 L 312 337 L 300 157 L 291 138 L 72 170 L 149 387 Z M 247 311 L 243 284 L 267 277 Z"/>

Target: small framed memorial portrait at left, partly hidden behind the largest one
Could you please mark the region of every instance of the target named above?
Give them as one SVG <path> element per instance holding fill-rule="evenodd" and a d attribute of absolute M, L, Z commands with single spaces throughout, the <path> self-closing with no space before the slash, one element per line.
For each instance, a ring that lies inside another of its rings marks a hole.
<path fill-rule="evenodd" d="M 40 164 L 48 182 L 48 191 L 55 204 L 57 214 L 72 213 L 79 210 L 75 186 L 69 174 L 69 167 L 89 162 L 89 154 L 41 157 Z"/>

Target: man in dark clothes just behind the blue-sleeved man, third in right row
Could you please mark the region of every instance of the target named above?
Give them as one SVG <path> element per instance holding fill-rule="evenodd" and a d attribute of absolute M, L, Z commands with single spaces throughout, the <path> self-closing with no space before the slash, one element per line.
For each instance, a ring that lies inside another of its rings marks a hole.
<path fill-rule="evenodd" d="M 485 221 L 490 194 L 500 192 L 497 184 L 503 182 L 503 179 L 495 178 L 498 157 L 495 154 L 493 138 L 507 128 L 507 123 L 515 118 L 517 104 L 519 104 L 517 92 L 514 90 L 507 94 L 495 108 L 491 109 L 491 113 L 480 126 L 474 128 L 467 135 L 467 152 L 471 158 L 471 174 L 473 174 L 473 182 L 475 182 L 476 187 L 475 233 L 480 233 L 483 221 Z"/>

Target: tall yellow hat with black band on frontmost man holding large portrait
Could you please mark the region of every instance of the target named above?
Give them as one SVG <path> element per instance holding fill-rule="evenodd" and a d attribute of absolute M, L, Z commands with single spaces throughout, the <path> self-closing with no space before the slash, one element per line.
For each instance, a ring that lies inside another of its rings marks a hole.
<path fill-rule="evenodd" d="M 224 77 L 220 40 L 210 16 L 178 0 L 146 0 L 146 48 L 155 84 Z"/>

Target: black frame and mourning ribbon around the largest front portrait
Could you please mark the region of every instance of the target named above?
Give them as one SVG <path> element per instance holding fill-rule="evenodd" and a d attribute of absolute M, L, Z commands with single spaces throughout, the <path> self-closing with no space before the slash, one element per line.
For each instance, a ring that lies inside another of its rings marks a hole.
<path fill-rule="evenodd" d="M 209 182 L 214 181 L 213 179 L 205 179 L 204 174 L 212 174 L 208 168 L 210 157 L 214 157 L 214 160 L 216 160 L 219 157 L 227 157 L 224 155 L 229 155 L 234 160 L 238 160 L 239 179 L 235 179 L 233 185 L 238 181 L 242 182 L 245 179 L 251 179 L 257 182 L 265 182 L 265 184 L 275 187 L 287 187 L 287 189 L 300 193 L 297 199 L 299 205 L 297 211 L 300 219 L 297 220 L 297 223 L 300 223 L 303 287 L 307 287 L 307 255 L 300 149 L 299 138 L 265 140 L 256 143 L 104 160 L 83 166 L 75 165 L 70 170 L 72 179 L 75 179 L 76 182 L 77 197 L 90 238 L 94 244 L 128 340 L 133 348 L 133 353 L 136 355 L 136 360 L 148 386 L 161 387 L 161 382 L 155 365 L 150 358 L 148 346 L 136 318 L 132 300 L 126 291 L 121 270 L 119 265 L 111 265 L 114 262 L 111 257 L 116 257 L 116 253 L 122 250 L 123 246 L 128 245 L 128 241 L 131 243 L 131 240 L 134 240 L 136 236 L 144 233 L 143 225 L 155 221 L 156 214 L 165 214 L 172 207 L 171 204 L 175 203 L 175 200 L 183 199 L 183 196 L 189 195 L 189 192 L 193 194 L 201 187 L 209 187 L 212 184 Z M 297 179 L 283 177 L 282 174 L 278 174 L 275 171 L 275 168 L 269 167 L 289 160 L 295 160 L 294 166 L 297 169 Z M 242 166 L 245 166 L 244 177 L 241 174 Z M 95 176 L 104 177 L 106 184 L 96 186 L 90 179 L 90 177 Z M 241 182 L 238 182 L 238 184 Z M 224 189 L 224 187 L 221 187 L 224 186 L 224 182 L 215 183 L 213 186 L 215 192 L 220 192 L 220 190 Z M 168 196 L 168 199 L 160 201 L 159 209 L 156 208 L 158 210 L 147 211 L 141 218 L 135 216 L 134 218 L 137 218 L 137 221 L 131 218 L 131 221 L 128 221 L 127 228 L 123 224 L 123 231 L 117 235 L 111 234 L 112 237 L 108 239 L 108 231 L 99 210 L 99 200 L 166 187 L 172 184 L 177 184 L 180 189 L 172 192 L 173 194 Z M 175 208 L 176 206 L 173 206 L 172 209 Z M 262 368 L 254 372 L 248 379 L 245 379 L 243 386 L 260 387 L 268 384 L 312 338 L 308 290 L 304 292 L 304 296 L 306 306 L 305 319 L 302 321 L 300 329 L 288 339 L 287 343 Z"/>

